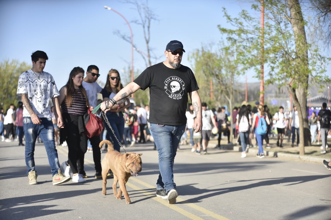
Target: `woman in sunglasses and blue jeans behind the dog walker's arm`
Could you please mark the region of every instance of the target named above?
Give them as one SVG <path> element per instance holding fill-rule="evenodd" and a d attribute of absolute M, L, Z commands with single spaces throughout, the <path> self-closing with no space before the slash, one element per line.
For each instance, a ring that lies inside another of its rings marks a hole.
<path fill-rule="evenodd" d="M 121 84 L 121 78 L 118 71 L 115 69 L 111 69 L 107 74 L 106 85 L 102 89 L 103 101 L 107 101 L 113 98 L 122 88 L 123 85 Z M 114 105 L 112 109 L 107 111 L 106 113 L 107 119 L 112 126 L 114 132 L 107 124 L 105 124 L 105 127 L 109 136 L 113 140 L 114 149 L 118 152 L 120 150 L 120 145 L 118 141 L 122 141 L 124 133 L 124 118 L 122 111 L 129 106 L 131 106 L 130 100 L 126 98 L 122 101 L 117 102 L 117 105 Z"/>

